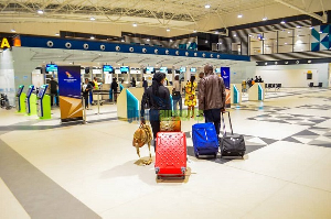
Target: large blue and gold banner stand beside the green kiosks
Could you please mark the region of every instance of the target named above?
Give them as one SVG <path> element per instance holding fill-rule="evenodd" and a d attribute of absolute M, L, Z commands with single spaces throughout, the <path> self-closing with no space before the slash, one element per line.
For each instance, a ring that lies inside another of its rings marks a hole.
<path fill-rule="evenodd" d="M 83 120 L 81 66 L 58 66 L 61 121 Z"/>

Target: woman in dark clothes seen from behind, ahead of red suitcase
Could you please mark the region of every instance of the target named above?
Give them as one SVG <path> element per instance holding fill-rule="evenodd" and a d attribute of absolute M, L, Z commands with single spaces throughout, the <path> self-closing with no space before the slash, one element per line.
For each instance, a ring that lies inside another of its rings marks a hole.
<path fill-rule="evenodd" d="M 146 122 L 143 118 L 145 108 L 146 106 L 150 107 L 149 119 L 154 138 L 154 150 L 157 133 L 160 131 L 160 110 L 171 110 L 170 92 L 169 89 L 163 86 L 164 79 L 166 74 L 163 73 L 156 73 L 153 75 L 152 85 L 143 92 L 140 107 L 141 123 L 143 124 Z"/>

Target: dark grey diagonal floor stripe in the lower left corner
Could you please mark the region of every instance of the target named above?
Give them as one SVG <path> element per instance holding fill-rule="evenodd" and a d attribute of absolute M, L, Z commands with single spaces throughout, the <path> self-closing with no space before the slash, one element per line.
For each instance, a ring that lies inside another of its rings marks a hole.
<path fill-rule="evenodd" d="M 0 177 L 33 219 L 100 219 L 1 140 Z"/>

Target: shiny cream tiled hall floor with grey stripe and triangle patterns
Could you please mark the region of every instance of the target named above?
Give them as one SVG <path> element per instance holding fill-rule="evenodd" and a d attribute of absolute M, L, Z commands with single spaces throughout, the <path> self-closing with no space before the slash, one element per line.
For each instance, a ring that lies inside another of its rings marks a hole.
<path fill-rule="evenodd" d="M 281 89 L 233 106 L 244 160 L 195 158 L 196 121 L 183 121 L 183 182 L 158 180 L 153 165 L 140 165 L 131 146 L 138 123 L 117 120 L 114 105 L 72 125 L 60 123 L 56 108 L 45 121 L 0 109 L 0 218 L 330 219 L 330 97 Z"/>

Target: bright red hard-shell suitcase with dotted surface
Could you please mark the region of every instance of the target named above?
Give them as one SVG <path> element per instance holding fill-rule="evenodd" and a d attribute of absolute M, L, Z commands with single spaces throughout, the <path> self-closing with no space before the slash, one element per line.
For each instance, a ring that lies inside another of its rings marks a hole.
<path fill-rule="evenodd" d="M 156 173 L 161 177 L 185 178 L 186 135 L 184 132 L 158 132 Z"/>

